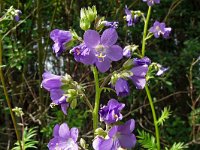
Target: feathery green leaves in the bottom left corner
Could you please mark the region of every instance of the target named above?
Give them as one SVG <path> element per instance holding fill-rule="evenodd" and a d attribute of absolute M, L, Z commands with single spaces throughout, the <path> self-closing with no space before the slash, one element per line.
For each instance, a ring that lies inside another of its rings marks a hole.
<path fill-rule="evenodd" d="M 26 149 L 37 149 L 36 144 L 38 144 L 38 141 L 34 139 L 34 137 L 37 135 L 37 128 L 33 127 L 28 129 L 27 127 L 24 129 L 23 137 L 21 140 L 21 144 L 24 150 Z M 21 150 L 19 146 L 19 142 L 17 141 L 15 146 L 12 148 L 12 150 Z"/>

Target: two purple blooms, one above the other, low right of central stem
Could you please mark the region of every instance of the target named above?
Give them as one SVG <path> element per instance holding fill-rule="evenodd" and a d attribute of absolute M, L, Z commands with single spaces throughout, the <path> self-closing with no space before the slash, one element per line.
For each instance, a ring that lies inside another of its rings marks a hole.
<path fill-rule="evenodd" d="M 107 106 L 103 106 L 100 111 L 100 118 L 106 124 L 113 124 L 122 120 L 121 110 L 125 104 L 119 103 L 115 99 L 108 101 Z M 117 150 L 118 148 L 132 148 L 136 144 L 136 137 L 132 133 L 135 128 L 135 121 L 128 120 L 124 125 L 113 125 L 106 135 L 97 135 L 93 141 L 95 150 Z"/>

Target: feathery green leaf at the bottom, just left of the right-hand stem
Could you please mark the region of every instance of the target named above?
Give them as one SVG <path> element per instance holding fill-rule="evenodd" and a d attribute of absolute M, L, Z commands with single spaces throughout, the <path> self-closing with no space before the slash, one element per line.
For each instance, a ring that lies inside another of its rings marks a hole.
<path fill-rule="evenodd" d="M 145 131 L 139 131 L 138 130 L 138 142 L 142 145 L 143 148 L 146 148 L 148 150 L 157 150 L 156 146 L 156 139 L 154 136 L 150 135 L 149 133 Z"/>

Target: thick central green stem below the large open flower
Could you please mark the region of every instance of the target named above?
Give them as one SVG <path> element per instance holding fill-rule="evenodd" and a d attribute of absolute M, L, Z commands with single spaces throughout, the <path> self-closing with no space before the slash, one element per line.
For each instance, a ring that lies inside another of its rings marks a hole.
<path fill-rule="evenodd" d="M 94 110 L 92 113 L 93 116 L 93 129 L 94 131 L 97 129 L 98 127 L 98 121 L 99 121 L 99 115 L 98 115 L 98 111 L 99 111 L 99 103 L 100 103 L 100 95 L 101 95 L 101 88 L 99 87 L 99 77 L 98 77 L 98 71 L 96 69 L 96 67 L 92 66 L 92 71 L 94 74 L 94 81 L 95 81 L 95 105 L 94 105 Z"/>

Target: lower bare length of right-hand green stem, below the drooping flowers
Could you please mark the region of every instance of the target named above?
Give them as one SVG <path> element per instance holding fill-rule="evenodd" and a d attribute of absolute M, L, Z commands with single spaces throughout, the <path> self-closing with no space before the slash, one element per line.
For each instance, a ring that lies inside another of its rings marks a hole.
<path fill-rule="evenodd" d="M 145 86 L 145 90 L 146 90 L 146 93 L 147 93 L 147 96 L 149 99 L 149 103 L 150 103 L 151 111 L 152 111 L 152 115 L 153 115 L 153 122 L 154 122 L 154 127 L 155 127 L 155 132 L 156 132 L 157 148 L 158 148 L 158 150 L 160 150 L 160 135 L 159 135 L 159 130 L 158 130 L 157 117 L 156 117 L 153 101 L 151 98 L 151 94 L 150 94 L 150 91 L 149 91 L 149 88 L 147 85 Z"/>

